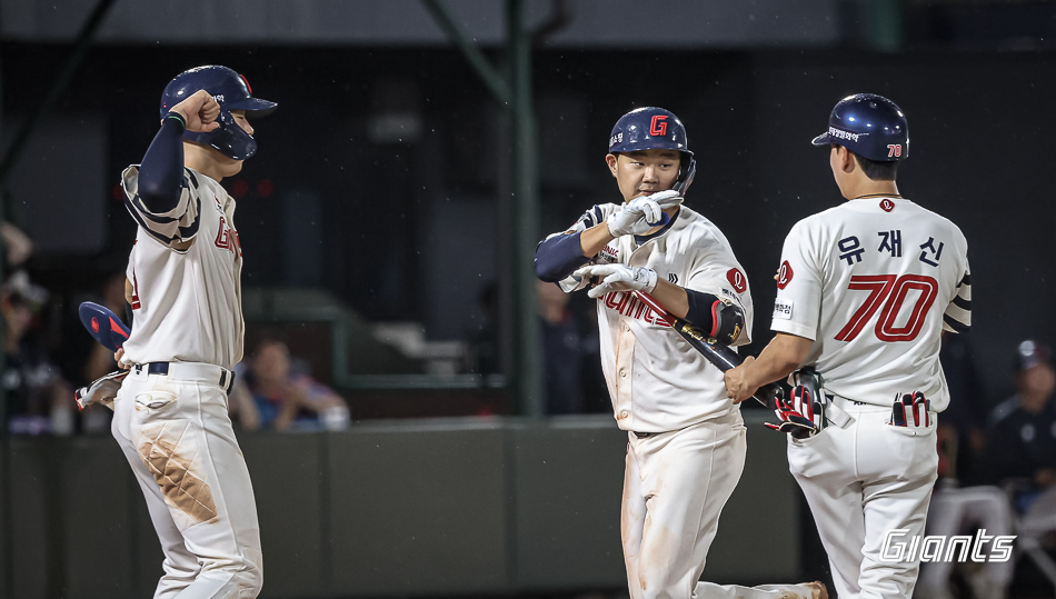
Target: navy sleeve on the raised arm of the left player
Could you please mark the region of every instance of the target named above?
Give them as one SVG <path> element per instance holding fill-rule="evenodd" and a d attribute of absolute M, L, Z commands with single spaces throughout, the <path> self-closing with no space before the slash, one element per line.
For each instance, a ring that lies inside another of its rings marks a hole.
<path fill-rule="evenodd" d="M 176 208 L 183 190 L 183 121 L 167 117 L 139 167 L 139 197 L 157 214 Z"/>

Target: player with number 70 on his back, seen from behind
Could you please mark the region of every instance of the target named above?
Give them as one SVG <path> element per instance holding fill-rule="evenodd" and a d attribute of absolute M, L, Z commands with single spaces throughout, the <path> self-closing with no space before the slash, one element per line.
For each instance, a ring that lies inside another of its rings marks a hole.
<path fill-rule="evenodd" d="M 734 401 L 813 367 L 820 392 L 797 386 L 776 428 L 814 512 L 840 597 L 910 597 L 937 476 L 936 413 L 949 402 L 943 331 L 970 325 L 960 229 L 898 193 L 906 118 L 871 93 L 839 101 L 828 131 L 844 198 L 785 240 L 771 328 L 759 358 L 726 373 Z M 814 379 L 814 377 L 800 377 Z M 816 379 L 815 379 L 816 380 Z M 894 542 L 891 540 L 894 539 Z"/>

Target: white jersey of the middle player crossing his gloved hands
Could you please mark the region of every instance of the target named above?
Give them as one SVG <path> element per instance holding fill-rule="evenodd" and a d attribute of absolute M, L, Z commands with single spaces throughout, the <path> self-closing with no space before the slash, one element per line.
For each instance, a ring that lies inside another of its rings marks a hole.
<path fill-rule="evenodd" d="M 612 203 L 596 206 L 568 232 L 605 222 L 618 209 Z M 635 236 L 616 238 L 595 262 L 651 268 L 658 278 L 731 301 L 745 312 L 745 328 L 735 345 L 750 341 L 751 294 L 744 269 L 726 236 L 697 212 L 681 207 L 671 223 L 640 246 Z M 584 284 L 571 278 L 561 281 L 566 291 Z M 634 293 L 617 291 L 599 298 L 598 325 L 601 369 L 619 428 L 679 430 L 737 409 L 726 397 L 723 372 Z"/>

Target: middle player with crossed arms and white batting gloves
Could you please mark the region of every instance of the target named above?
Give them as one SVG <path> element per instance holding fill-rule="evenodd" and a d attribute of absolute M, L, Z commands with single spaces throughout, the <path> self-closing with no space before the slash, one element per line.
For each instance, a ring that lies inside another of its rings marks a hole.
<path fill-rule="evenodd" d="M 595 282 L 601 368 L 628 439 L 620 533 L 631 598 L 826 597 L 816 582 L 698 582 L 744 469 L 744 420 L 721 372 L 634 292 L 739 346 L 751 329 L 748 281 L 723 232 L 681 206 L 696 166 L 675 114 L 624 114 L 605 158 L 622 201 L 595 206 L 541 241 L 536 272 L 567 292 Z"/>

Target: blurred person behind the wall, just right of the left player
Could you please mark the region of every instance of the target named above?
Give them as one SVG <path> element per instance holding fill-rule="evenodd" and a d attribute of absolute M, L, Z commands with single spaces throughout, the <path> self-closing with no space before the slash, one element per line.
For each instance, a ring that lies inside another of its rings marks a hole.
<path fill-rule="evenodd" d="M 286 343 L 262 341 L 243 372 L 245 390 L 252 398 L 252 408 L 240 393 L 231 406 L 242 428 L 275 430 L 341 430 L 348 427 L 348 406 L 341 396 L 306 373 L 291 368 Z M 236 379 L 238 380 L 238 379 Z"/>

